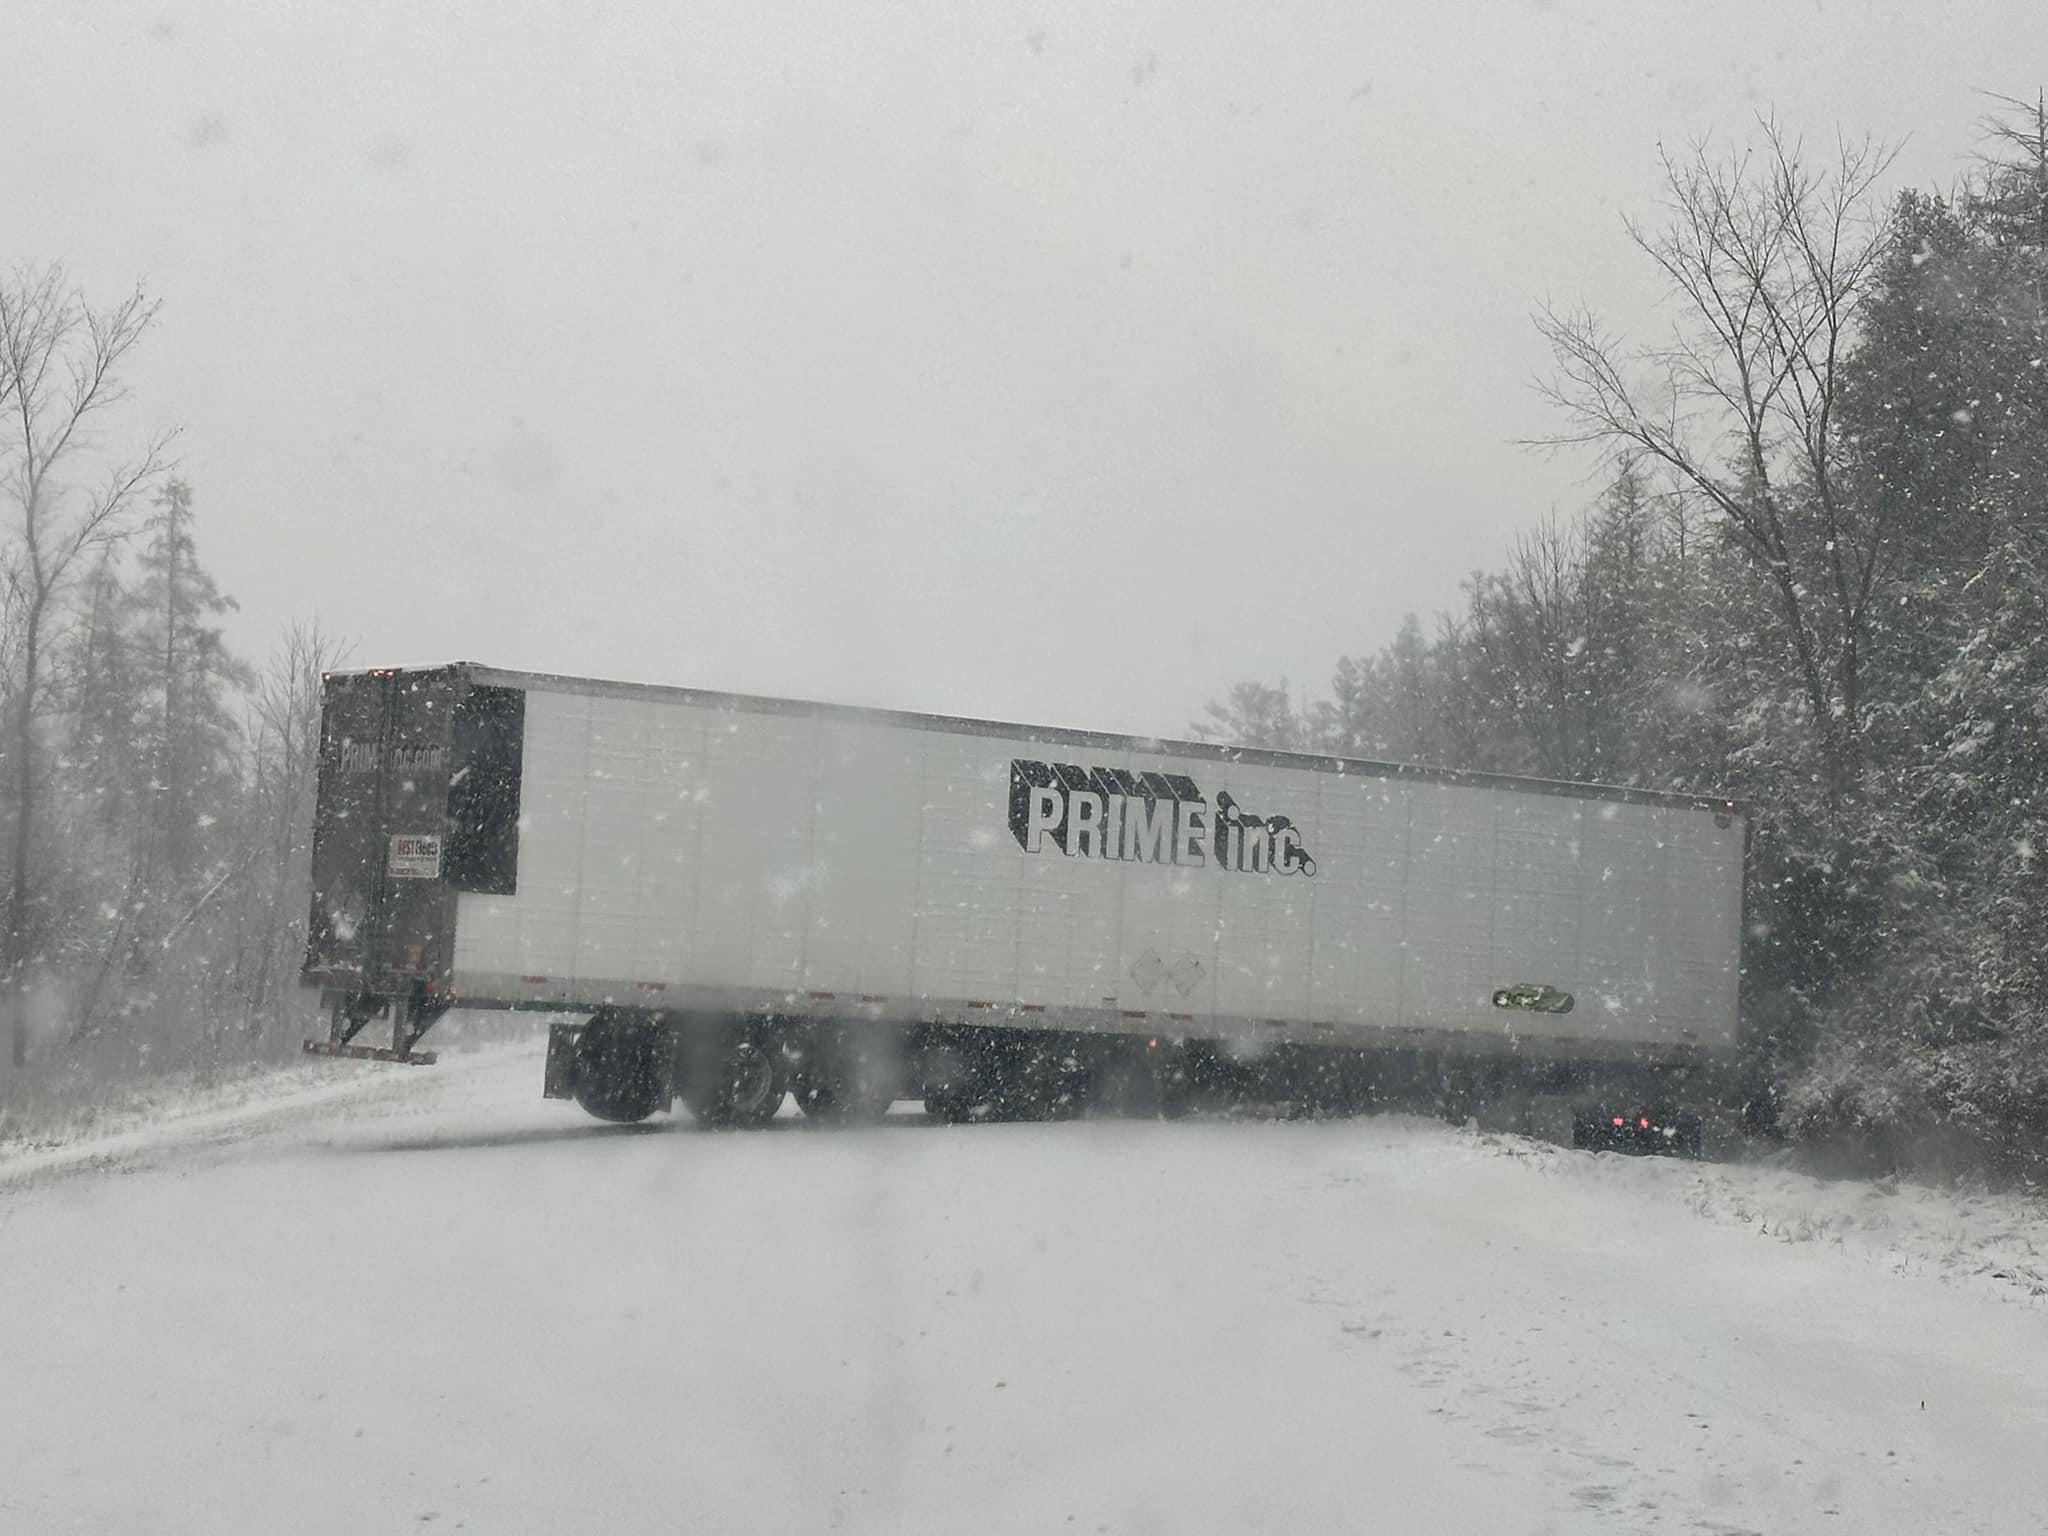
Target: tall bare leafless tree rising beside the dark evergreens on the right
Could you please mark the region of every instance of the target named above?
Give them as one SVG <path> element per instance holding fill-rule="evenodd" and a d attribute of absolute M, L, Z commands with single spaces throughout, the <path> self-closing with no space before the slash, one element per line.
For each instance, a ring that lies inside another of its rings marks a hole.
<path fill-rule="evenodd" d="M 1767 582 L 1812 719 L 1831 799 L 1853 778 L 1872 592 L 1892 506 L 1853 485 L 1837 406 L 1858 311 L 1890 225 L 1876 182 L 1890 152 L 1837 145 L 1815 170 L 1763 123 L 1759 154 L 1665 156 L 1669 221 L 1628 233 L 1669 279 L 1667 346 L 1628 346 L 1585 309 L 1546 309 L 1556 373 L 1540 385 L 1569 426 L 1663 465 L 1718 512 Z"/>

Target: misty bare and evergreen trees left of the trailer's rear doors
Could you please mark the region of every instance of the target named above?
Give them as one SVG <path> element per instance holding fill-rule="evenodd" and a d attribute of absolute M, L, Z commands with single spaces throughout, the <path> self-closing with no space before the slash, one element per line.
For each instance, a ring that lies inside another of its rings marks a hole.
<path fill-rule="evenodd" d="M 0 1110 L 55 1075 L 293 1049 L 319 674 L 221 633 L 170 434 L 123 371 L 158 307 L 0 276 Z"/>

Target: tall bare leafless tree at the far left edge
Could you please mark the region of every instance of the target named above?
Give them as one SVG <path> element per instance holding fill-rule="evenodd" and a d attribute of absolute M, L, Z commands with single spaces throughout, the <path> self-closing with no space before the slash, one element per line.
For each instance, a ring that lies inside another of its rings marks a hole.
<path fill-rule="evenodd" d="M 70 578 L 129 530 L 139 492 L 166 467 L 170 434 L 139 451 L 102 459 L 98 479 L 61 479 L 74 459 L 100 459 L 96 422 L 125 397 L 121 365 L 156 317 L 141 289 L 94 309 L 63 268 L 16 270 L 0 279 L 0 592 L 14 645 L 8 719 L 0 725 L 12 756 L 8 905 L 0 928 L 0 981 L 12 1014 L 12 1059 L 27 1057 L 27 971 L 31 850 L 35 842 L 35 721 L 45 690 L 45 662 L 57 602 Z"/>

